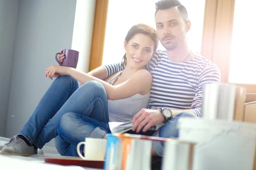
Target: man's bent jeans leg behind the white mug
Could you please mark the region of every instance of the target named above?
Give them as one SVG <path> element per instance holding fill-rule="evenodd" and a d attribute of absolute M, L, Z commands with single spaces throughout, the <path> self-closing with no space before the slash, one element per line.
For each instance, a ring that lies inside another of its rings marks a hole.
<path fill-rule="evenodd" d="M 86 137 L 103 138 L 107 133 L 111 133 L 108 122 L 78 113 L 64 114 L 57 131 L 55 146 L 62 156 L 78 156 L 76 146 Z"/>

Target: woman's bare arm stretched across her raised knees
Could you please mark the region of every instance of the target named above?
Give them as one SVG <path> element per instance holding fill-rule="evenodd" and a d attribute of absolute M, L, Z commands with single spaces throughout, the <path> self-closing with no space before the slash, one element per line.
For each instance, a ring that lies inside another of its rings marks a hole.
<path fill-rule="evenodd" d="M 138 93 L 149 92 L 152 84 L 152 76 L 147 70 L 139 70 L 127 81 L 114 86 L 75 68 L 52 65 L 46 70 L 46 77 L 48 76 L 50 79 L 60 75 L 70 75 L 82 84 L 91 80 L 100 82 L 104 86 L 110 100 L 125 99 Z"/>

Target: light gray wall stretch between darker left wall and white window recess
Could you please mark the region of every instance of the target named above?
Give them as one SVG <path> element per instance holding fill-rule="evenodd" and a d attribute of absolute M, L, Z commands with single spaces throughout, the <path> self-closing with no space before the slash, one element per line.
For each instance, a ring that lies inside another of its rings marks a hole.
<path fill-rule="evenodd" d="M 44 77 L 55 53 L 71 48 L 76 0 L 21 0 L 6 137 L 17 134 L 52 80 Z"/>

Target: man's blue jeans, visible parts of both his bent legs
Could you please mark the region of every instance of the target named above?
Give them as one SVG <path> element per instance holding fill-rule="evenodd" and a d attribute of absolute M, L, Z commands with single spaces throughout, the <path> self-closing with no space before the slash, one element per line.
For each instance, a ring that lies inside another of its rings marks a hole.
<path fill-rule="evenodd" d="M 177 116 L 175 116 L 172 120 L 167 122 L 166 125 L 161 127 L 159 130 L 155 131 L 152 136 L 164 138 L 178 137 L 179 131 L 177 129 L 177 122 L 180 117 L 196 118 L 196 116 L 192 113 L 180 113 Z M 70 127 L 72 127 L 72 129 L 70 129 Z M 73 127 L 75 128 L 73 129 Z M 76 144 L 80 141 L 84 141 L 84 138 L 81 138 L 81 136 L 91 138 L 102 138 L 105 135 L 105 133 L 102 134 L 102 129 L 108 129 L 108 133 L 110 133 L 108 124 L 105 122 L 100 122 L 96 119 L 90 118 L 88 116 L 79 115 L 76 113 L 65 114 L 64 116 L 62 116 L 60 125 L 58 126 L 58 133 L 60 138 L 62 139 L 62 142 L 58 142 L 62 143 L 62 146 L 58 147 L 61 147 L 62 150 L 67 150 L 65 153 L 62 153 L 62 155 L 76 156 Z M 66 144 L 64 141 L 66 141 Z M 154 141 L 153 148 L 159 156 L 163 156 L 162 142 Z"/>

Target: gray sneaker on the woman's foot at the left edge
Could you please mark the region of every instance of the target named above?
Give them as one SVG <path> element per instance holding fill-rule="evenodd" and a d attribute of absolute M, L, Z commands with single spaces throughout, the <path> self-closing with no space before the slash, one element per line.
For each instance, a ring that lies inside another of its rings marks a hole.
<path fill-rule="evenodd" d="M 9 143 L 7 143 L 0 154 L 2 155 L 19 155 L 19 156 L 31 156 L 37 154 L 37 149 L 33 146 L 29 146 L 25 141 L 14 136 Z"/>

